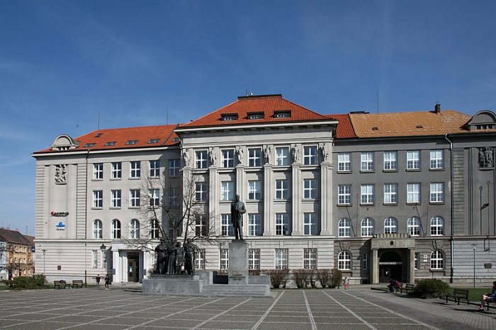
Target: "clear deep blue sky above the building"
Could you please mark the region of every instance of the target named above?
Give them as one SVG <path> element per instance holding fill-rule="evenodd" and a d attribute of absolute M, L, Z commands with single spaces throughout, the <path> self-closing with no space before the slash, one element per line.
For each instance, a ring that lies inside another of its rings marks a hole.
<path fill-rule="evenodd" d="M 55 137 L 245 91 L 318 113 L 496 110 L 496 1 L 0 1 L 0 226 L 34 234 Z M 167 110 L 169 115 L 167 115 Z"/>

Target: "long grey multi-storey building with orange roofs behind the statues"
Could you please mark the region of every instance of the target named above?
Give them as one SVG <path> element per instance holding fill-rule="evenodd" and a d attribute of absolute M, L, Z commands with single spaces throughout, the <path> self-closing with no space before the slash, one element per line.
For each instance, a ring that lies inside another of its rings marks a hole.
<path fill-rule="evenodd" d="M 196 266 L 222 270 L 239 195 L 249 268 L 470 281 L 475 262 L 489 280 L 495 137 L 488 110 L 320 115 L 279 94 L 242 96 L 184 125 L 59 135 L 33 154 L 36 262 L 49 278 L 138 281 L 161 235 L 186 232 L 205 237 Z M 167 221 L 177 187 L 197 207 L 179 231 Z"/>

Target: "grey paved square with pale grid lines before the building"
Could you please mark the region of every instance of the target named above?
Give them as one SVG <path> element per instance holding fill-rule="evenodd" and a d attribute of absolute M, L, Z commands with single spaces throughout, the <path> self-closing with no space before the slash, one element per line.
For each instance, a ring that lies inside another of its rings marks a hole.
<path fill-rule="evenodd" d="M 496 312 L 361 290 L 273 298 L 144 295 L 140 288 L 0 292 L 0 329 L 496 329 Z"/>

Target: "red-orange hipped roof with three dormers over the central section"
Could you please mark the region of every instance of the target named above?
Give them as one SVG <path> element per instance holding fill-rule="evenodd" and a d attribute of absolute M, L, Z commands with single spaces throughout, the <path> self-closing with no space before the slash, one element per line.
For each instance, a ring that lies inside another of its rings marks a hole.
<path fill-rule="evenodd" d="M 291 111 L 291 116 L 276 118 L 280 111 Z M 252 113 L 263 113 L 263 118 L 250 119 Z M 222 120 L 222 115 L 237 115 L 237 120 Z M 179 125 L 179 128 L 232 126 L 250 124 L 295 123 L 300 121 L 329 120 L 324 115 L 287 101 L 281 94 L 264 96 L 239 96 L 237 101 L 218 110 L 193 120 L 191 123 Z"/>

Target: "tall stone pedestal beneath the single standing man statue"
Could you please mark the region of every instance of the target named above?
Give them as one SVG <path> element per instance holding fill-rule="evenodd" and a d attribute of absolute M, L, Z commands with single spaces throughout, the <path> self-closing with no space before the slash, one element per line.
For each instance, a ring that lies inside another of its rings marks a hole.
<path fill-rule="evenodd" d="M 229 244 L 228 285 L 248 285 L 248 243 L 235 239 Z"/>

